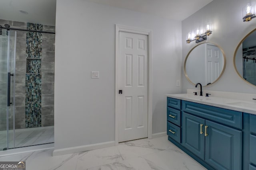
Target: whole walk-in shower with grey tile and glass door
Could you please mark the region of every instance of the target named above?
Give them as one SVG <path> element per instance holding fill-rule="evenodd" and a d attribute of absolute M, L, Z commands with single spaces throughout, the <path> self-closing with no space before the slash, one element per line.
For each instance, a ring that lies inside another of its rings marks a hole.
<path fill-rule="evenodd" d="M 54 31 L 0 20 L 0 150 L 54 142 Z"/>

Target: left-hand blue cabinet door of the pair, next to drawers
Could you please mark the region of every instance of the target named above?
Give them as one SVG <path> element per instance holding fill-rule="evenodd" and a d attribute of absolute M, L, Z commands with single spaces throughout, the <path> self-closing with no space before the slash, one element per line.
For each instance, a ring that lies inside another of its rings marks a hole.
<path fill-rule="evenodd" d="M 204 119 L 182 113 L 182 145 L 204 159 Z M 202 125 L 202 134 L 200 134 Z"/>

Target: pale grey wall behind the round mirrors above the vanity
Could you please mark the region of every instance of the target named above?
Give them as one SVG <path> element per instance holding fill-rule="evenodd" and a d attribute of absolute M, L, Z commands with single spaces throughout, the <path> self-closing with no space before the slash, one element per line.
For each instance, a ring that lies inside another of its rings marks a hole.
<path fill-rule="evenodd" d="M 186 44 L 186 34 L 196 27 L 204 27 L 212 22 L 213 33 L 207 37 L 207 42 L 219 45 L 226 54 L 226 70 L 222 77 L 214 84 L 204 87 L 205 90 L 227 92 L 256 93 L 256 87 L 244 82 L 236 73 L 233 56 L 240 41 L 256 26 L 256 19 L 249 22 L 242 21 L 242 7 L 256 0 L 214 0 L 198 12 L 182 21 L 182 59 L 196 45 L 193 41 Z M 187 88 L 195 88 L 182 74 L 182 92 Z"/>

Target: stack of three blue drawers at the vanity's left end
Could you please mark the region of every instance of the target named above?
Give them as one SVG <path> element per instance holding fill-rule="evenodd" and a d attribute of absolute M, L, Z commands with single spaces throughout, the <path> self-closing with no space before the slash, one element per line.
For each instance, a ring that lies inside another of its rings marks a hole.
<path fill-rule="evenodd" d="M 181 142 L 180 127 L 181 100 L 167 98 L 167 135 L 176 142 Z"/>

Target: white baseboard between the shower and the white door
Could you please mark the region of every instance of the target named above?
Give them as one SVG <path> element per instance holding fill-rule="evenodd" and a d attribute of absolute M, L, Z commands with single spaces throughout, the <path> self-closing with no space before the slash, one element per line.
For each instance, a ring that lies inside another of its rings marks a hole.
<path fill-rule="evenodd" d="M 52 156 L 58 156 L 63 154 L 76 153 L 76 152 L 84 152 L 88 150 L 101 149 L 101 148 L 113 147 L 113 146 L 115 146 L 115 141 L 96 143 L 92 145 L 83 145 L 79 147 L 70 147 L 65 149 L 55 149 L 52 153 Z"/>

